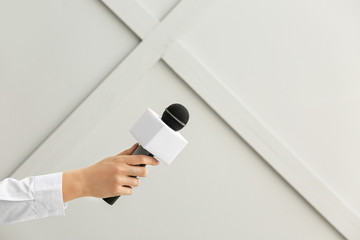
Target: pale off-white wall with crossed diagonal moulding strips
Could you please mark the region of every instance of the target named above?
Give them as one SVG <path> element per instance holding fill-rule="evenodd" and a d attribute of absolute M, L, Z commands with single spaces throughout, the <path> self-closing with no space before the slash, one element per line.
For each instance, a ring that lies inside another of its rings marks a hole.
<path fill-rule="evenodd" d="M 22 162 L 12 176 L 95 163 L 132 145 L 128 130 L 146 107 L 161 113 L 173 102 L 189 108 L 190 143 L 114 206 L 75 200 L 66 217 L 2 226 L 1 238 L 359 236 L 358 3 L 193 1 L 198 12 L 175 17 L 183 29 L 161 42 L 178 31 L 166 23 L 177 1 L 133 1 L 124 18 L 110 9 L 126 0 L 106 2 L 0 1 L 0 177 Z M 139 9 L 165 30 L 139 34 Z M 256 137 L 281 146 L 278 162 Z"/>

